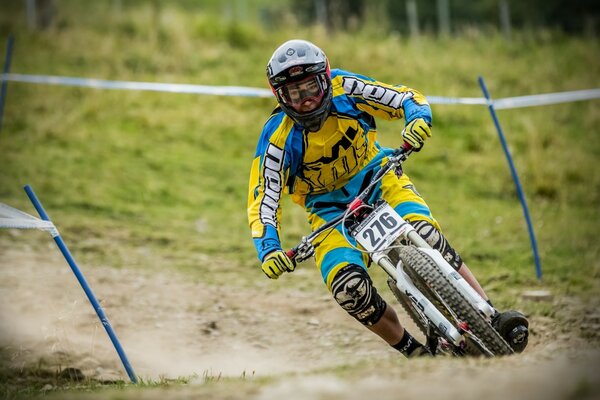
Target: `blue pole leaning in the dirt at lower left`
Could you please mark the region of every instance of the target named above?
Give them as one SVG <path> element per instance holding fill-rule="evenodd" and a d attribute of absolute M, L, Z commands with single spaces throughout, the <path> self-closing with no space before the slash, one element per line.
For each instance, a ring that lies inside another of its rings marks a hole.
<path fill-rule="evenodd" d="M 46 211 L 44 210 L 42 203 L 38 200 L 33 189 L 31 188 L 31 186 L 26 185 L 25 192 L 27 193 L 27 196 L 29 197 L 29 199 L 33 203 L 33 206 L 35 207 L 38 214 L 40 215 L 40 218 L 42 218 L 44 221 L 50 221 L 48 214 L 46 214 Z M 96 310 L 96 314 L 98 314 L 98 318 L 100 318 L 100 322 L 102 323 L 102 326 L 104 326 L 104 329 L 106 330 L 106 333 L 108 334 L 108 337 L 110 338 L 111 342 L 115 346 L 115 350 L 117 350 L 119 358 L 121 359 L 121 362 L 123 363 L 123 366 L 125 367 L 125 371 L 127 371 L 127 375 L 129 376 L 129 379 L 131 380 L 131 382 L 137 383 L 137 377 L 136 377 L 135 373 L 133 372 L 133 368 L 131 368 L 131 365 L 129 364 L 129 360 L 127 359 L 127 356 L 125 355 L 125 351 L 123 350 L 123 347 L 121 347 L 121 343 L 119 342 L 117 335 L 115 334 L 110 322 L 108 321 L 108 318 L 106 317 L 106 314 L 104 313 L 104 309 L 102 309 L 102 306 L 96 299 L 96 296 L 92 292 L 92 289 L 90 288 L 85 277 L 81 273 L 81 270 L 75 263 L 75 260 L 73 259 L 73 256 L 71 256 L 71 252 L 69 252 L 67 245 L 60 237 L 60 234 L 58 233 L 58 231 L 55 231 L 55 233 L 53 233 L 52 236 L 54 238 L 54 241 L 58 245 L 58 248 L 60 249 L 61 253 L 67 260 L 67 263 L 69 263 L 71 270 L 73 270 L 73 273 L 75 274 L 75 277 L 77 278 L 77 280 L 79 281 L 79 284 L 83 288 L 83 291 L 87 295 L 88 300 L 90 301 L 90 303 L 92 303 L 94 310 Z"/>

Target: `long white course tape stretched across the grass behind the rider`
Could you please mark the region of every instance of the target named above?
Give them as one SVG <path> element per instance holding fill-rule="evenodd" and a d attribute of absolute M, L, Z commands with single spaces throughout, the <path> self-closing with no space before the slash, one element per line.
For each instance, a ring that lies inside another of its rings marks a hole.
<path fill-rule="evenodd" d="M 149 90 L 155 92 L 208 94 L 215 96 L 271 97 L 269 89 L 243 86 L 206 86 L 181 83 L 155 83 L 132 81 L 109 81 L 104 79 L 73 78 L 51 75 L 0 74 L 1 80 L 48 85 L 80 86 L 97 89 Z M 600 98 L 600 89 L 577 90 L 573 92 L 546 93 L 532 96 L 506 97 L 493 100 L 499 110 L 566 103 Z M 484 97 L 442 97 L 427 96 L 430 104 L 486 105 Z"/>

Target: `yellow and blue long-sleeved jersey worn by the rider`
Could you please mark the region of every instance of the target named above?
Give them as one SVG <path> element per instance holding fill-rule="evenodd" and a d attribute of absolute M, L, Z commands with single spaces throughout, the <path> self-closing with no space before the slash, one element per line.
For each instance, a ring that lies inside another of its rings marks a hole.
<path fill-rule="evenodd" d="M 307 197 L 343 192 L 365 167 L 380 162 L 383 150 L 376 140 L 375 118 L 404 118 L 405 123 L 423 118 L 431 123 L 429 104 L 414 89 L 339 69 L 331 71 L 331 82 L 331 111 L 320 130 L 304 131 L 279 108 L 264 125 L 248 193 L 248 222 L 261 261 L 281 249 L 283 193 L 312 208 Z"/>

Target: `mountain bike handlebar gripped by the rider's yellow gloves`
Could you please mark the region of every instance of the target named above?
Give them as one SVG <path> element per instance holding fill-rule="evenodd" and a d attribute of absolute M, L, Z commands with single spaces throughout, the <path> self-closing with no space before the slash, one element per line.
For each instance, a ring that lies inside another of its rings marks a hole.
<path fill-rule="evenodd" d="M 373 179 L 371 179 L 371 182 L 367 185 L 367 187 L 363 189 L 363 191 L 360 192 L 354 200 L 348 203 L 348 205 L 346 206 L 346 211 L 338 215 L 331 221 L 321 225 L 320 227 L 315 229 L 310 235 L 304 236 L 300 243 L 298 243 L 296 246 L 292 247 L 291 249 L 285 252 L 288 258 L 294 261 L 295 263 L 300 263 L 312 256 L 314 254 L 314 247 L 312 244 L 314 239 L 325 230 L 331 229 L 337 224 L 339 224 L 349 212 L 354 211 L 361 204 L 363 204 L 363 200 L 365 200 L 367 195 L 371 192 L 373 186 L 375 186 L 377 182 L 379 182 L 381 178 L 383 178 L 383 176 L 389 171 L 400 166 L 412 152 L 412 146 L 406 142 L 404 142 L 401 147 L 394 150 L 392 155 L 388 157 L 387 163 L 383 167 L 381 167 L 377 174 L 375 174 L 375 176 L 373 177 Z"/>

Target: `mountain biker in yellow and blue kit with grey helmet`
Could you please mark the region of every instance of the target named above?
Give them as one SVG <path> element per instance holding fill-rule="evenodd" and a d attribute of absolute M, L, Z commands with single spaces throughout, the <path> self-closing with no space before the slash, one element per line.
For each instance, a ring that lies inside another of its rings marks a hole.
<path fill-rule="evenodd" d="M 404 118 L 402 138 L 420 151 L 431 136 L 432 116 L 418 91 L 330 70 L 325 53 L 304 40 L 287 41 L 275 50 L 267 78 L 279 106 L 264 125 L 252 163 L 248 221 L 262 270 L 277 279 L 295 268 L 279 240 L 282 193 L 306 209 L 316 229 L 343 212 L 391 154 L 376 141 L 375 118 Z M 413 225 L 491 305 L 406 174 L 385 175 L 374 196 Z M 377 293 L 367 273 L 368 259 L 350 246 L 341 229 L 315 241 L 316 264 L 335 300 L 405 356 L 431 354 Z M 496 312 L 492 323 L 515 351 L 525 348 L 528 322 L 522 314 Z"/>

